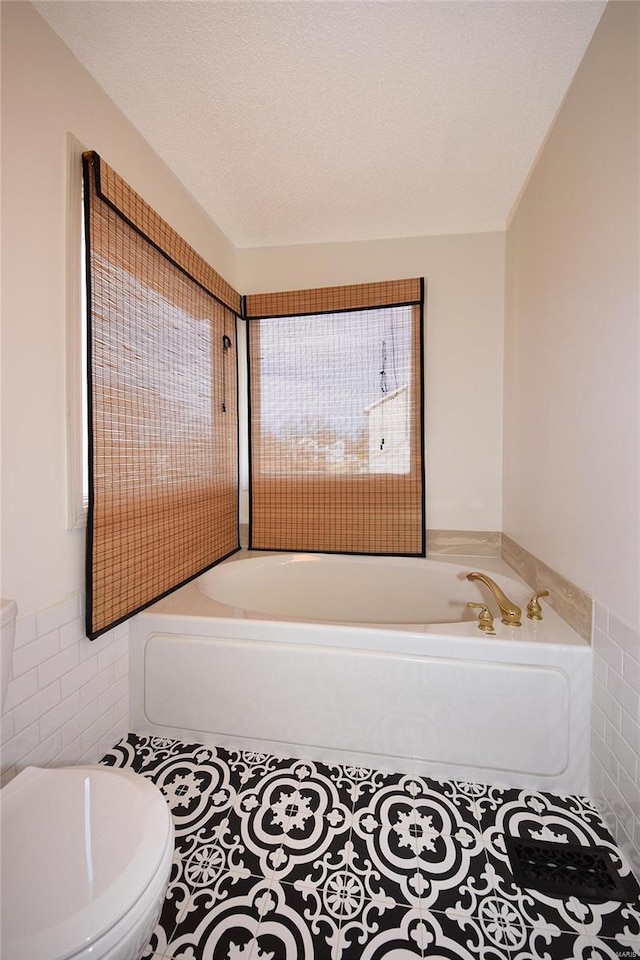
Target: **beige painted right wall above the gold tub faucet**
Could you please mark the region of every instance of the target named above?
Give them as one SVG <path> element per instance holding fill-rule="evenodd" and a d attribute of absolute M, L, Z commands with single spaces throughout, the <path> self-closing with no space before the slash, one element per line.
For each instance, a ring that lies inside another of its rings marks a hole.
<path fill-rule="evenodd" d="M 639 16 L 605 11 L 508 230 L 503 524 L 636 630 Z"/>

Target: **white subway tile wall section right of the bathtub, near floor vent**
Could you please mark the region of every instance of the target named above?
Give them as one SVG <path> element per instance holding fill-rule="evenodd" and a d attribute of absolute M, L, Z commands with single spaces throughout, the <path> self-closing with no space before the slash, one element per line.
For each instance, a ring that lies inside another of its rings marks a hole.
<path fill-rule="evenodd" d="M 640 634 L 596 601 L 591 792 L 640 877 Z"/>

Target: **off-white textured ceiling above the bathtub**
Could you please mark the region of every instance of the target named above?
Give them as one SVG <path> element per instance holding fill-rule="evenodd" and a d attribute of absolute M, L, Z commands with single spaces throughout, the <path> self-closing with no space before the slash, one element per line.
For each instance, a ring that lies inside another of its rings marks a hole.
<path fill-rule="evenodd" d="M 604 6 L 36 3 L 237 247 L 503 228 Z"/>

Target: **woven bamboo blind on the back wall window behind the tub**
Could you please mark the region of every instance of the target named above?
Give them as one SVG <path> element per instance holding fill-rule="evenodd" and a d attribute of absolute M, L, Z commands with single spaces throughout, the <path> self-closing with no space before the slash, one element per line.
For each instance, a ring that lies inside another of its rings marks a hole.
<path fill-rule="evenodd" d="M 424 556 L 420 279 L 246 298 L 249 546 Z"/>

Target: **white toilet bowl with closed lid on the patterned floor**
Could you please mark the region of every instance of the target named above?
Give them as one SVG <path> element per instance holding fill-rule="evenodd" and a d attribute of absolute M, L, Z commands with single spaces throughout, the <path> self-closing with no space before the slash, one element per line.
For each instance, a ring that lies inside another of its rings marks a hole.
<path fill-rule="evenodd" d="M 29 767 L 0 799 L 3 960 L 106 955 L 164 895 L 173 822 L 139 774 Z"/>

